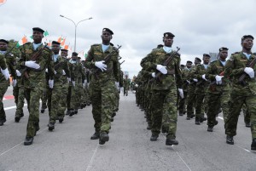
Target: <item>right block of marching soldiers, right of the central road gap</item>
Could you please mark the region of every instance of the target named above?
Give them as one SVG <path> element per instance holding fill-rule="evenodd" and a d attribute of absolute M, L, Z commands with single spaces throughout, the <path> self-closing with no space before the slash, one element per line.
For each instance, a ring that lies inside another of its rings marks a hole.
<path fill-rule="evenodd" d="M 223 112 L 226 143 L 234 145 L 238 117 L 243 111 L 245 125 L 251 128 L 251 150 L 256 150 L 256 54 L 253 36 L 241 37 L 241 51 L 228 57 L 229 48 L 219 48 L 218 59 L 203 54 L 195 57 L 195 66 L 187 61 L 180 65 L 180 54 L 172 49 L 171 32 L 164 33 L 164 45 L 158 45 L 143 60 L 137 75 L 136 102 L 144 111 L 151 130 L 151 141 L 160 132 L 166 133 L 166 145 L 177 145 L 177 114 L 195 117 L 195 124 L 207 121 L 207 131 L 218 124 L 216 117 Z M 202 64 L 201 64 L 202 61 Z M 207 117 L 206 117 L 207 116 Z M 182 117 L 181 117 L 182 118 Z"/>

